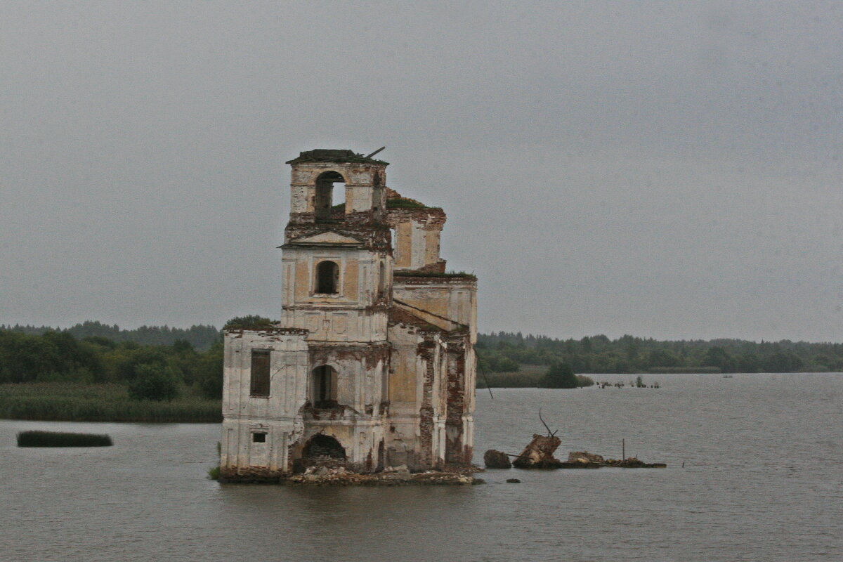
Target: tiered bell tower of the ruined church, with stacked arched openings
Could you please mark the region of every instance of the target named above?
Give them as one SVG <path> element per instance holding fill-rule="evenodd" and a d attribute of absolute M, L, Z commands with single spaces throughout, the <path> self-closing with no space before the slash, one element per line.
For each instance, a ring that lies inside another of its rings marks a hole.
<path fill-rule="evenodd" d="M 287 163 L 293 169 L 281 247 L 282 325 L 308 330 L 304 441 L 330 436 L 345 449 L 349 466 L 372 470 L 383 459 L 362 452 L 383 450 L 388 408 L 389 164 L 325 149 Z M 341 195 L 345 202 L 335 204 Z M 305 447 L 294 456 L 308 454 Z"/>

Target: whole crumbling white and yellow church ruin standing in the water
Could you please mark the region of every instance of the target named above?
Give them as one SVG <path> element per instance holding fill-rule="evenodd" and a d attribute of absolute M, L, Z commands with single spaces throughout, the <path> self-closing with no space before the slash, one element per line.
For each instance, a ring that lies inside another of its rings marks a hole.
<path fill-rule="evenodd" d="M 225 332 L 221 474 L 470 465 L 477 284 L 445 273 L 445 213 L 350 150 L 287 163 L 282 318 Z"/>

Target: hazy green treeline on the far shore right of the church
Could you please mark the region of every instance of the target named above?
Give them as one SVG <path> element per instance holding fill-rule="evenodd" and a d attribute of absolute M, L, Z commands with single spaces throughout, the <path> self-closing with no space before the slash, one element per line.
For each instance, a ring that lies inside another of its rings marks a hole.
<path fill-rule="evenodd" d="M 565 363 L 574 372 L 840 372 L 843 344 L 804 341 L 658 341 L 625 335 L 556 340 L 544 335 L 492 332 L 477 336 L 477 356 L 489 372 L 520 365 Z"/>

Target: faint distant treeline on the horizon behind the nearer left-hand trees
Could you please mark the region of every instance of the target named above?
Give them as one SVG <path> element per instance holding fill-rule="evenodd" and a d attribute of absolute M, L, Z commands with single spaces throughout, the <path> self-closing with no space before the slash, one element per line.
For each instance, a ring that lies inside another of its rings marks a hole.
<path fill-rule="evenodd" d="M 136 329 L 121 329 L 114 324 L 102 324 L 86 320 L 71 328 L 51 328 L 50 326 L 13 326 L 0 325 L 0 329 L 30 335 L 42 335 L 46 332 L 67 332 L 77 340 L 97 337 L 111 341 L 132 341 L 139 345 L 173 345 L 182 340 L 190 343 L 196 350 L 204 351 L 219 339 L 219 329 L 214 326 L 194 325 L 190 328 L 170 328 L 169 326 L 141 326 Z"/>

